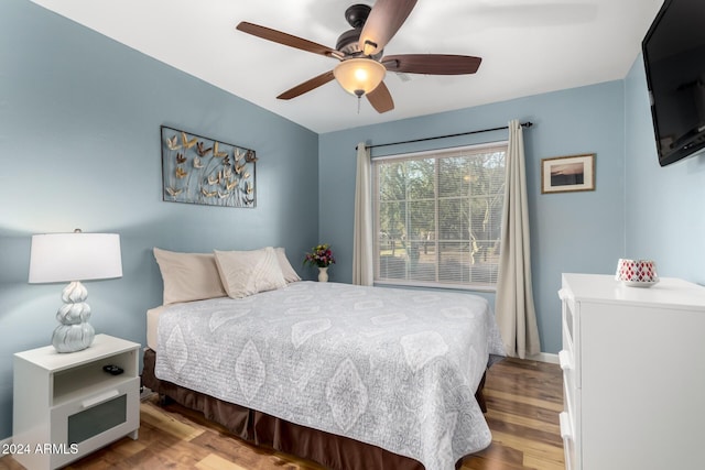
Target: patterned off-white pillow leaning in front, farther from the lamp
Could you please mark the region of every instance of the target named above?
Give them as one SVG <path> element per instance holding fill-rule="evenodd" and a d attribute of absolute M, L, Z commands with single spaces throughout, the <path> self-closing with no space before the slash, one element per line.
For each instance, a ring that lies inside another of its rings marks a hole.
<path fill-rule="evenodd" d="M 232 298 L 286 286 L 272 247 L 250 251 L 215 250 L 215 255 L 220 281 Z"/>

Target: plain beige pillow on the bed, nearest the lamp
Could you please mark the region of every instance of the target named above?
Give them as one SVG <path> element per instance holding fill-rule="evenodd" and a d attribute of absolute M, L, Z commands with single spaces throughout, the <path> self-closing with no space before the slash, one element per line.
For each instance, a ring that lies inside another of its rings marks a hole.
<path fill-rule="evenodd" d="M 164 305 L 227 295 L 212 253 L 178 253 L 159 248 L 153 252 L 164 281 Z"/>

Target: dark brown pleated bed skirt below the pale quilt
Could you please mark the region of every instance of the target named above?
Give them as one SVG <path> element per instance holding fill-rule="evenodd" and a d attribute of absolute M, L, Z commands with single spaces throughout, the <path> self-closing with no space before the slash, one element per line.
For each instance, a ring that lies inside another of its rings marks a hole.
<path fill-rule="evenodd" d="M 380 447 L 360 442 L 343 436 L 289 423 L 232 403 L 174 383 L 161 381 L 154 375 L 156 353 L 144 350 L 142 384 L 160 395 L 165 395 L 189 409 L 204 414 L 207 419 L 228 428 L 235 436 L 258 446 L 313 460 L 335 470 L 422 470 L 417 460 L 392 453 Z M 477 391 L 477 398 L 485 411 L 482 386 L 485 376 Z M 463 459 L 455 464 L 459 469 Z"/>

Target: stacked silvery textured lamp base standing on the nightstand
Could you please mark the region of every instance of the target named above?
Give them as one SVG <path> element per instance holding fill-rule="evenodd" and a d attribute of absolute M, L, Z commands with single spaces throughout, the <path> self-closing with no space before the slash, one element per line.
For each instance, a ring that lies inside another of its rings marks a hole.
<path fill-rule="evenodd" d="M 88 323 L 90 306 L 86 304 L 88 291 L 75 281 L 68 284 L 62 292 L 64 305 L 56 313 L 56 319 L 61 324 L 54 330 L 52 345 L 58 352 L 75 352 L 93 345 L 96 332 Z"/>

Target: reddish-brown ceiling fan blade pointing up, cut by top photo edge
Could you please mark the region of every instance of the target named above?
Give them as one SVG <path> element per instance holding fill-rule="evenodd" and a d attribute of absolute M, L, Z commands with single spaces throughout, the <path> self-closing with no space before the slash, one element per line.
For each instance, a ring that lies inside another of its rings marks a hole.
<path fill-rule="evenodd" d="M 360 33 L 360 51 L 375 55 L 383 50 L 415 6 L 416 0 L 377 0 Z"/>

